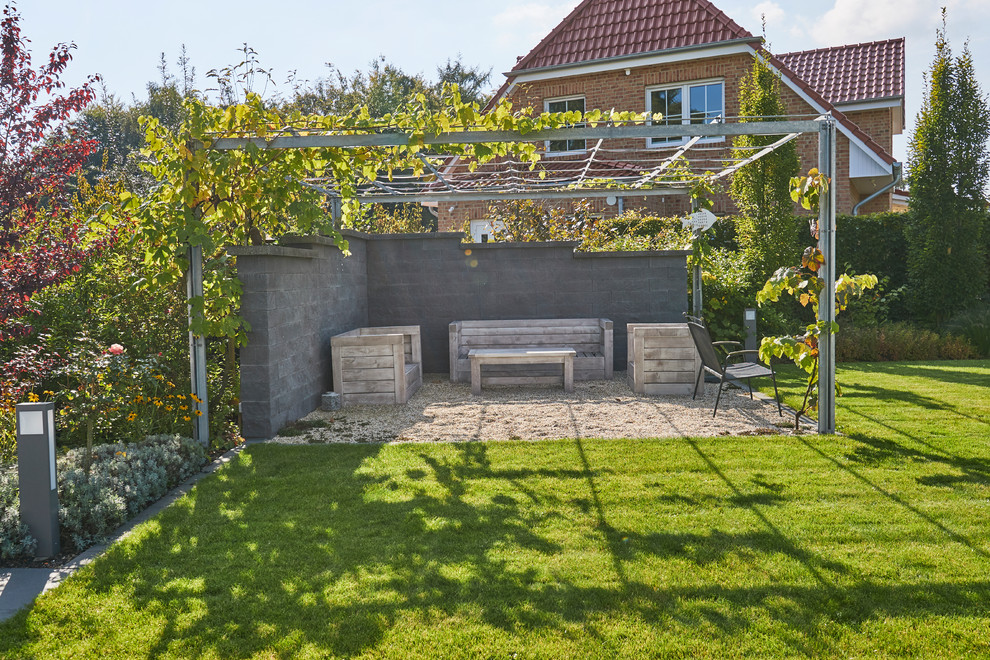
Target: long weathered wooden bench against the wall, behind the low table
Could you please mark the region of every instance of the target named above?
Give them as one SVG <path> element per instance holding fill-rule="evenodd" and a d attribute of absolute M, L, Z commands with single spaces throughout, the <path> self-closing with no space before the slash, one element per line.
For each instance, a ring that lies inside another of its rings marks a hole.
<path fill-rule="evenodd" d="M 509 321 L 455 321 L 450 324 L 450 380 L 471 380 L 472 350 L 524 349 L 574 351 L 574 380 L 612 378 L 612 321 L 608 319 L 525 319 Z M 566 365 L 565 365 L 566 366 Z M 485 370 L 486 385 L 556 384 L 556 363 L 492 363 Z"/>

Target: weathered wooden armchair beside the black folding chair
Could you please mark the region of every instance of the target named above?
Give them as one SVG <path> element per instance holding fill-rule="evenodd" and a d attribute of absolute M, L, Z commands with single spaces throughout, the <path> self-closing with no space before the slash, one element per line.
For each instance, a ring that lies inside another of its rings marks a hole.
<path fill-rule="evenodd" d="M 701 368 L 686 323 L 626 325 L 626 378 L 636 394 L 691 394 Z"/>

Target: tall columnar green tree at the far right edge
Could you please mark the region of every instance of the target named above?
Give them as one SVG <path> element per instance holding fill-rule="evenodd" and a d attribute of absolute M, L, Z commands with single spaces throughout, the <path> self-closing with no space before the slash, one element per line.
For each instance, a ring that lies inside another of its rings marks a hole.
<path fill-rule="evenodd" d="M 908 148 L 908 278 L 918 318 L 941 325 L 987 291 L 990 108 L 969 45 L 953 58 L 942 28 Z"/>

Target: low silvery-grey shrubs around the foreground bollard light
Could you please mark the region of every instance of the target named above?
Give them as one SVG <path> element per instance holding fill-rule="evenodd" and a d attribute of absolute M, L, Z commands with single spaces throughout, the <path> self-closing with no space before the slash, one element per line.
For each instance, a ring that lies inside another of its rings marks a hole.
<path fill-rule="evenodd" d="M 206 464 L 203 447 L 188 438 L 149 436 L 131 444 L 93 449 L 89 474 L 85 449 L 58 459 L 61 543 L 79 552 L 104 541 L 117 527 Z M 35 541 L 20 522 L 17 478 L 0 474 L 0 555 L 30 555 Z"/>

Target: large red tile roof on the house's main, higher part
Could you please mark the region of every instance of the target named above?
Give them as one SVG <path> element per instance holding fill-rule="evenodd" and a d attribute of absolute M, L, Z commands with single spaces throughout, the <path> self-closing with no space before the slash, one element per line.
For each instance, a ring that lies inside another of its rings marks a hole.
<path fill-rule="evenodd" d="M 512 71 L 735 39 L 758 41 L 708 0 L 584 0 Z"/>

